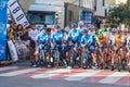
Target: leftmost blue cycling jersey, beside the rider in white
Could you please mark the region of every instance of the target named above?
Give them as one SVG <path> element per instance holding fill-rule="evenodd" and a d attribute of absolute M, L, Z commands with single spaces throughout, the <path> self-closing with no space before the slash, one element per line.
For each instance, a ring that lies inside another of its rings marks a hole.
<path fill-rule="evenodd" d="M 36 36 L 36 41 L 38 44 L 47 45 L 49 42 L 50 36 L 48 34 L 38 34 Z"/>

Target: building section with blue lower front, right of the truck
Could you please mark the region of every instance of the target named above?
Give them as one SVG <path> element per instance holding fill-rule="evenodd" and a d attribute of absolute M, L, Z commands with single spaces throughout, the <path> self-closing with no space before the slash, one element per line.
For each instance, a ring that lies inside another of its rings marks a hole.
<path fill-rule="evenodd" d="M 73 0 L 72 3 L 79 7 L 79 21 L 83 21 L 86 24 L 91 25 L 94 13 L 94 0 Z"/>

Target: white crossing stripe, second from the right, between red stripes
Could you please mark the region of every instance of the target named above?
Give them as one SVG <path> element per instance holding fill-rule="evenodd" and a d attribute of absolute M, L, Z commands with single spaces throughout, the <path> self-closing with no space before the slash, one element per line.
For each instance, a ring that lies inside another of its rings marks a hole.
<path fill-rule="evenodd" d="M 75 75 L 72 75 L 67 78 L 65 78 L 66 80 L 81 80 L 81 79 L 84 79 L 87 77 L 90 77 L 96 73 L 100 73 L 101 71 L 93 71 L 93 70 L 87 70 L 86 72 L 82 72 L 82 73 L 78 73 L 78 74 L 75 74 Z"/>

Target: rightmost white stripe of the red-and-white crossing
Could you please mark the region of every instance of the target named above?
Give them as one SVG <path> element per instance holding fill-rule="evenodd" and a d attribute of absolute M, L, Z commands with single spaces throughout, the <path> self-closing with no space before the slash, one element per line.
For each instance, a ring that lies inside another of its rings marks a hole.
<path fill-rule="evenodd" d="M 126 76 L 127 72 L 115 72 L 114 74 L 101 79 L 99 83 L 102 83 L 102 84 L 114 84 L 116 83 L 117 80 L 119 80 L 120 78 L 122 78 L 123 76 Z"/>

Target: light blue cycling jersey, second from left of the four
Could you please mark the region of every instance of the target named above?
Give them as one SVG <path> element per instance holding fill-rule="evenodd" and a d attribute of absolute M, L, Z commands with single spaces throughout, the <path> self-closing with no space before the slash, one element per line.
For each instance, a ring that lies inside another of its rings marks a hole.
<path fill-rule="evenodd" d="M 63 41 L 63 33 L 61 30 L 57 30 L 51 35 L 51 40 L 53 42 L 62 42 Z"/>

